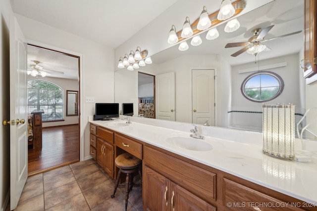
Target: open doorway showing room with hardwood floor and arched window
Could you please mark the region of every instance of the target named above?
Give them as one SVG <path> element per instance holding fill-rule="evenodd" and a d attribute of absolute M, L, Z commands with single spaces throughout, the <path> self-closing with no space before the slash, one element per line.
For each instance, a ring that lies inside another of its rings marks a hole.
<path fill-rule="evenodd" d="M 80 94 L 73 99 L 73 115 L 68 114 L 69 90 L 79 93 L 80 57 L 37 45 L 27 45 L 28 113 L 42 113 L 41 126 L 33 124 L 33 144 L 28 150 L 28 175 L 34 175 L 80 160 Z M 58 91 L 49 84 L 60 87 Z M 32 120 L 31 120 L 32 121 Z M 33 121 L 34 122 L 34 121 Z M 40 128 L 39 128 L 40 127 Z M 38 137 L 36 136 L 38 135 Z M 42 139 L 42 147 L 34 142 Z M 34 140 L 35 139 L 35 140 Z"/>

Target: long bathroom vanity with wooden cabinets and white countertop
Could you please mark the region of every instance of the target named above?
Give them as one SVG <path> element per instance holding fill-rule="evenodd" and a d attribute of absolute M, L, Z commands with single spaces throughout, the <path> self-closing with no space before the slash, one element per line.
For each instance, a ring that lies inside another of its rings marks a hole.
<path fill-rule="evenodd" d="M 144 119 L 90 121 L 91 156 L 110 176 L 119 154 L 142 160 L 144 210 L 317 210 L 316 160 L 277 159 L 248 140 L 219 138 L 242 137 L 238 130 L 200 126 L 200 140 L 190 124 Z"/>

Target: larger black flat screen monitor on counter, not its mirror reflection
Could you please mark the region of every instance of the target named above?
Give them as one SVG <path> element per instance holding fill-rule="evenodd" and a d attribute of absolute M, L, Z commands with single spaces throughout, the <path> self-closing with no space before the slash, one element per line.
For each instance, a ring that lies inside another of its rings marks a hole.
<path fill-rule="evenodd" d="M 111 120 L 119 117 L 119 103 L 96 103 L 94 120 Z"/>

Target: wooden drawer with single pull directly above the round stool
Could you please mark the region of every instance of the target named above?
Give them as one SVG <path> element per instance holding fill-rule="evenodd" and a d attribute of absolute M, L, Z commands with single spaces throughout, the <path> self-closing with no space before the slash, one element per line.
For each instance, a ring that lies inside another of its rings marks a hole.
<path fill-rule="evenodd" d="M 142 160 L 142 144 L 117 134 L 114 134 L 114 143 L 117 147 Z"/>

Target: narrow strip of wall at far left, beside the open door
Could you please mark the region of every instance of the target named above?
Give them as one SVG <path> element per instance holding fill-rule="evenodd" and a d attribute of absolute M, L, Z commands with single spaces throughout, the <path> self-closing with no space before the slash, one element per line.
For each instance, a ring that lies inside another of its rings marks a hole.
<path fill-rule="evenodd" d="M 9 18 L 13 14 L 9 0 L 0 0 L 0 117 L 10 119 Z M 0 210 L 10 196 L 10 126 L 0 124 Z"/>

